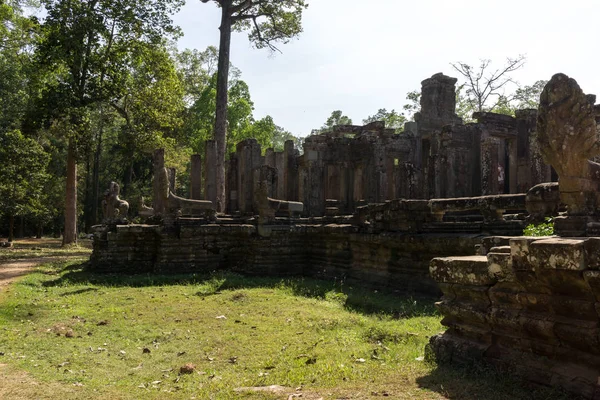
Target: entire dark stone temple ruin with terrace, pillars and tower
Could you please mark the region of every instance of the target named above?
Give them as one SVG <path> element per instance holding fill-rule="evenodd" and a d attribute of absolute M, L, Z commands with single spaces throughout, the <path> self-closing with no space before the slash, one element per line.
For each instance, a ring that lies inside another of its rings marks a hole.
<path fill-rule="evenodd" d="M 239 143 L 224 214 L 213 206 L 214 142 L 192 157 L 192 199 L 173 194 L 157 150 L 147 223 L 127 224 L 111 200 L 89 268 L 228 269 L 441 293 L 448 330 L 430 345 L 439 362 L 483 360 L 600 398 L 600 164 L 589 161 L 600 154 L 600 107 L 558 74 L 539 110 L 465 124 L 455 84 L 423 81 L 421 112 L 402 134 L 380 122 L 336 126 L 308 137 L 302 155 L 291 141 L 264 155 L 256 140 Z M 547 216 L 569 238 L 520 236 Z"/>

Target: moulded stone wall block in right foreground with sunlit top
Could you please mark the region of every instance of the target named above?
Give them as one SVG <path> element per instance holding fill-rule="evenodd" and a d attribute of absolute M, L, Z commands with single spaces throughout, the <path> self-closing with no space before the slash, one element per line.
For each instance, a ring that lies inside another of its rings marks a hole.
<path fill-rule="evenodd" d="M 440 362 L 485 360 L 599 398 L 600 238 L 489 238 L 486 255 L 437 258 L 448 330 Z"/>

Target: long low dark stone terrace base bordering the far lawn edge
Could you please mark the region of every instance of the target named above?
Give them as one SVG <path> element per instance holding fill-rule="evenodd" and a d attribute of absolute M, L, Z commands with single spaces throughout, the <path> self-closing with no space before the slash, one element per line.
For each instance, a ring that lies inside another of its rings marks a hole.
<path fill-rule="evenodd" d="M 480 235 L 361 232 L 354 225 L 271 226 L 198 224 L 180 218 L 174 229 L 123 225 L 94 238 L 90 269 L 123 273 L 190 273 L 219 269 L 257 275 L 302 275 L 432 293 L 432 257 L 473 254 Z"/>

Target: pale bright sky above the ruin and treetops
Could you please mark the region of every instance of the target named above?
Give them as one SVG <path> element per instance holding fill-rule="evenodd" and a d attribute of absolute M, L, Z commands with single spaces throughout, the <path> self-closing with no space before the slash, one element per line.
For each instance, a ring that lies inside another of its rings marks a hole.
<path fill-rule="evenodd" d="M 234 33 L 231 62 L 242 71 L 254 116 L 273 117 L 296 136 L 334 110 L 355 124 L 380 108 L 402 110 L 406 93 L 450 63 L 492 66 L 525 55 L 521 85 L 562 72 L 600 99 L 598 0 L 308 0 L 304 32 L 271 54 Z M 180 49 L 218 46 L 220 10 L 187 0 L 175 16 Z M 460 82 L 460 80 L 459 80 Z"/>

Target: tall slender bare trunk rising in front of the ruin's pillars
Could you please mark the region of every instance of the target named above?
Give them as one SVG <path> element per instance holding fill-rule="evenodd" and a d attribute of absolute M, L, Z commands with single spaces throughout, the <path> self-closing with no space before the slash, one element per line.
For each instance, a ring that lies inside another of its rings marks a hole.
<path fill-rule="evenodd" d="M 229 49 L 231 47 L 231 0 L 221 2 L 221 37 L 217 69 L 217 110 L 214 138 L 217 142 L 217 211 L 225 212 L 225 151 L 227 148 L 227 86 L 229 81 Z"/>

